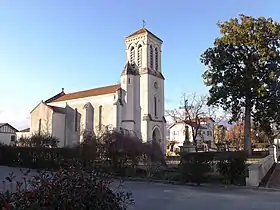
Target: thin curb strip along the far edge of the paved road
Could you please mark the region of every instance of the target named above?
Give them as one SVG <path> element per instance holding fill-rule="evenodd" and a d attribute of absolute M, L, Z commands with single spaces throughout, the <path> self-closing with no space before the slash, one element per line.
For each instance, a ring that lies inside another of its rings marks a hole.
<path fill-rule="evenodd" d="M 254 190 L 254 191 L 266 191 L 266 192 L 280 192 L 280 189 L 276 188 L 267 188 L 267 187 L 249 187 L 249 186 L 238 186 L 238 185 L 223 185 L 223 184 L 207 184 L 201 183 L 197 185 L 195 183 L 182 183 L 179 181 L 167 181 L 167 180 L 155 180 L 155 179 L 145 179 L 145 178 L 133 178 L 133 177 L 115 177 L 118 180 L 124 181 L 137 181 L 137 182 L 150 182 L 150 183 L 160 183 L 160 184 L 171 184 L 171 185 L 181 185 L 188 187 L 196 187 L 196 188 L 223 188 L 228 190 Z"/>

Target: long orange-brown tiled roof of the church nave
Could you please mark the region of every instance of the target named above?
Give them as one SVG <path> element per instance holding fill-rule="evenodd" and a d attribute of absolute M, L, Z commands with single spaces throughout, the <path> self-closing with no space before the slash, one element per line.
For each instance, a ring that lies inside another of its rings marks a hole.
<path fill-rule="evenodd" d="M 120 88 L 121 88 L 121 85 L 116 84 L 116 85 L 99 87 L 99 88 L 83 90 L 83 91 L 78 91 L 78 92 L 73 92 L 73 93 L 67 93 L 67 94 L 63 94 L 63 95 L 55 98 L 54 100 L 51 100 L 50 102 L 67 101 L 67 100 L 73 100 L 73 99 L 78 99 L 78 98 L 105 95 L 105 94 L 115 93 Z M 50 103 L 50 102 L 46 102 L 46 103 Z"/>

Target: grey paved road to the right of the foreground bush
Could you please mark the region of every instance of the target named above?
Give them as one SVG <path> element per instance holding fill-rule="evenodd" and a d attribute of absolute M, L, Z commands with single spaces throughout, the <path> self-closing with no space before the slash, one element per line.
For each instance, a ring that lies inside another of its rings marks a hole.
<path fill-rule="evenodd" d="M 135 198 L 130 210 L 279 210 L 280 191 L 207 189 L 145 182 L 125 182 Z"/>

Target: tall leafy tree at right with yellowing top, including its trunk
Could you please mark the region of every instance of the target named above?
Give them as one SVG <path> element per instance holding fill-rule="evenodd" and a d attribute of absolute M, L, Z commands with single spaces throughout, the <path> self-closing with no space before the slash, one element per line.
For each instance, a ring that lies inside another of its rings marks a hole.
<path fill-rule="evenodd" d="M 251 120 L 269 133 L 279 124 L 280 25 L 271 18 L 240 15 L 219 22 L 221 36 L 201 55 L 210 87 L 209 105 L 244 117 L 244 147 L 251 153 Z"/>

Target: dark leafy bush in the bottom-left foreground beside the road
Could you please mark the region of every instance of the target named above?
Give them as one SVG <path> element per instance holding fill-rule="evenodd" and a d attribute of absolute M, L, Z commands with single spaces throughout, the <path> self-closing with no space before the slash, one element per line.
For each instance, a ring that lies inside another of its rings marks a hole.
<path fill-rule="evenodd" d="M 29 179 L 16 183 L 16 190 L 1 193 L 2 207 L 11 210 L 124 210 L 133 202 L 130 193 L 117 188 L 113 191 L 112 181 L 97 170 L 84 168 L 74 162 L 56 173 L 44 171 Z M 6 178 L 14 182 L 13 174 Z M 12 188 L 12 185 L 11 185 Z"/>

